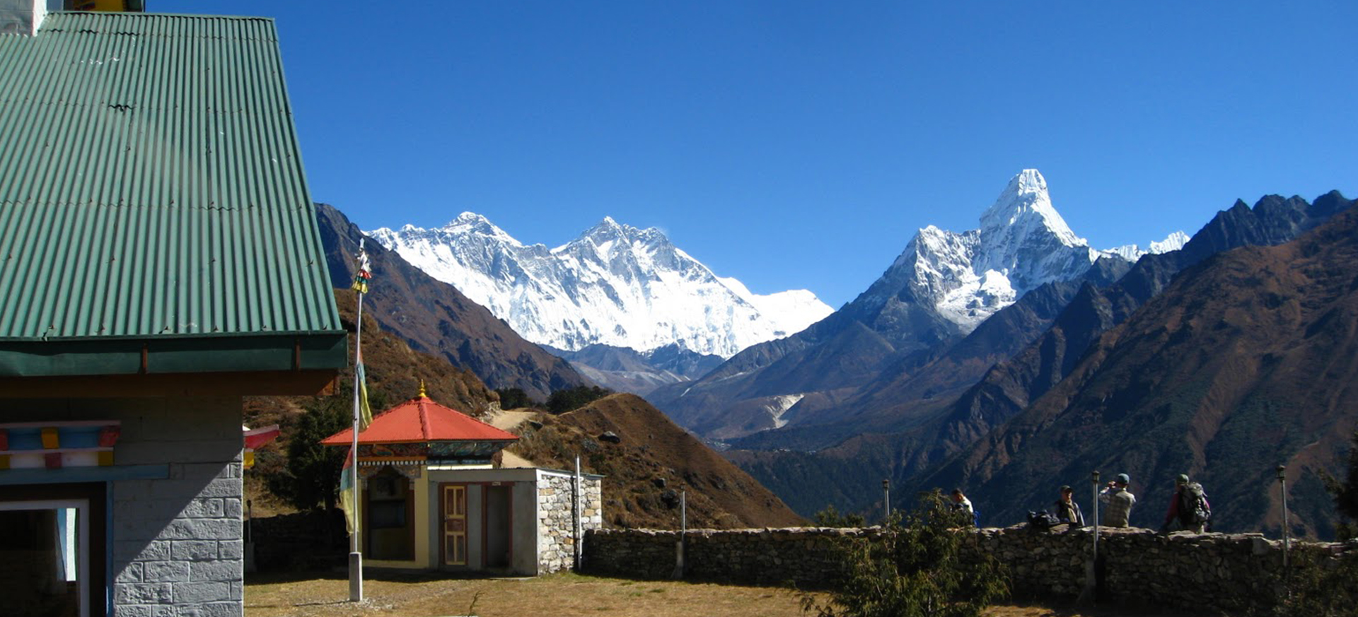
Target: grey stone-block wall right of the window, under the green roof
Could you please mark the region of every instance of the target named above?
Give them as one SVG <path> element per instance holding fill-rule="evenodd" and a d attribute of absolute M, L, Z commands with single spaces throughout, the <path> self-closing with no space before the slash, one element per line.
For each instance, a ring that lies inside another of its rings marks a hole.
<path fill-rule="evenodd" d="M 163 480 L 111 484 L 113 617 L 240 617 L 240 399 L 144 399 L 122 418 L 120 465 Z"/>

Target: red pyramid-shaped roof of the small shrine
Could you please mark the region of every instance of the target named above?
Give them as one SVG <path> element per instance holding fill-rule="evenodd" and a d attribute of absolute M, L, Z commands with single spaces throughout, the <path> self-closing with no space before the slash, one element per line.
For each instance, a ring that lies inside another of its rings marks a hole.
<path fill-rule="evenodd" d="M 326 446 L 353 443 L 353 429 L 345 429 L 320 441 Z M 359 443 L 425 443 L 432 441 L 515 441 L 519 437 L 456 410 L 440 405 L 428 396 L 410 399 L 372 419 L 368 430 L 359 431 Z"/>

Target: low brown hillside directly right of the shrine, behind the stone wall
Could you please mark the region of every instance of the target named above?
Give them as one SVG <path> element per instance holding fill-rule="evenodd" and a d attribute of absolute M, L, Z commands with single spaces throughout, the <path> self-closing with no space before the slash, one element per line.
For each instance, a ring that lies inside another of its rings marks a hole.
<path fill-rule="evenodd" d="M 679 529 L 679 491 L 690 528 L 778 528 L 805 521 L 773 492 L 634 395 L 611 395 L 580 410 L 526 423 L 511 452 L 540 466 L 581 466 L 604 477 L 604 522 Z M 607 431 L 618 443 L 599 437 Z"/>

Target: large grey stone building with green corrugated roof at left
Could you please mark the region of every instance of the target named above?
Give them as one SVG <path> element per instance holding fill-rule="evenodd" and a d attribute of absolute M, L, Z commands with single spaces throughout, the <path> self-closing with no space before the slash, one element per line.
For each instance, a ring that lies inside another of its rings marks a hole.
<path fill-rule="evenodd" d="M 3 612 L 239 617 L 242 396 L 346 362 L 274 24 L 45 5 L 0 0 Z"/>

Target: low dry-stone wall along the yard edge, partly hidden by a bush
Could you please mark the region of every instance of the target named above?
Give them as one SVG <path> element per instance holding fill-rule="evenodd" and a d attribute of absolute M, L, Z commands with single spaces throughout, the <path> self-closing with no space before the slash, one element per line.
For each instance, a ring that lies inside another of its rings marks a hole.
<path fill-rule="evenodd" d="M 1084 589 L 1093 529 L 1029 530 L 1023 526 L 970 530 L 968 556 L 991 555 L 1006 564 L 1021 597 L 1074 598 Z M 690 530 L 684 576 L 755 584 L 793 582 L 822 587 L 838 575 L 834 548 L 853 538 L 873 541 L 880 529 Z M 675 571 L 679 532 L 600 529 L 585 534 L 584 570 L 591 574 L 668 579 Z M 1321 560 L 1350 553 L 1347 544 L 1294 542 Z M 1104 597 L 1180 609 L 1245 609 L 1277 598 L 1282 541 L 1263 534 L 1157 534 L 1107 529 L 1099 534 Z M 1355 582 L 1358 587 L 1358 582 Z"/>

